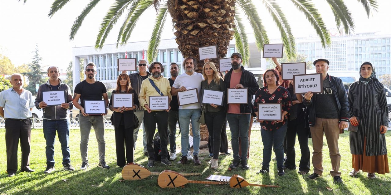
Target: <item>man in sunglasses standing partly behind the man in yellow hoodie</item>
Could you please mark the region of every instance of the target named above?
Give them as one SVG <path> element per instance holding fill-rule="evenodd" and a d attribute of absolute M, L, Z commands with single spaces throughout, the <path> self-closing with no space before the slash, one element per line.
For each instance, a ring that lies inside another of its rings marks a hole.
<path fill-rule="evenodd" d="M 148 65 L 147 64 L 148 64 L 147 60 L 144 60 L 144 59 L 138 60 L 138 66 L 137 66 L 138 67 L 138 72 L 129 74 L 130 83 L 132 85 L 132 88 L 136 90 L 137 94 L 140 94 L 141 83 L 143 82 L 143 80 L 147 79 L 148 76 L 151 75 L 151 73 L 149 73 L 147 71 L 147 69 L 148 69 Z M 122 73 L 126 73 L 126 71 L 122 71 Z M 140 122 L 138 123 L 138 127 L 133 132 L 133 142 L 134 142 L 133 149 L 136 148 L 136 141 L 137 141 L 138 130 L 140 129 L 141 124 L 143 124 L 144 155 L 148 156 L 147 135 L 145 134 L 145 125 L 144 125 L 144 122 L 143 122 L 143 119 L 144 119 L 144 108 L 143 108 L 143 106 L 140 106 L 139 108 L 137 108 L 135 110 L 135 115 L 136 115 L 138 121 L 140 121 Z"/>

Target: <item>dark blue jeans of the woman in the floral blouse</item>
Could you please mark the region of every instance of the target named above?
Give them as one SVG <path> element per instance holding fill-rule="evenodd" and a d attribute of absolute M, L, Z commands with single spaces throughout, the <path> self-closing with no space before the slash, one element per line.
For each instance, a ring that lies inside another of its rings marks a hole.
<path fill-rule="evenodd" d="M 262 142 L 264 144 L 264 159 L 262 161 L 262 167 L 269 168 L 272 147 L 274 147 L 274 153 L 276 153 L 277 167 L 284 166 L 283 144 L 287 129 L 288 125 L 286 123 L 279 129 L 273 131 L 267 131 L 261 128 Z"/>

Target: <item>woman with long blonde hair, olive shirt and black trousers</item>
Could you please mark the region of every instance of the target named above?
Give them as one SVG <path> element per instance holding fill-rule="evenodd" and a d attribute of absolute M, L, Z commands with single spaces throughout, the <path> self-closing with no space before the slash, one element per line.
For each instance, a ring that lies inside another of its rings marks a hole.
<path fill-rule="evenodd" d="M 203 72 L 204 81 L 201 82 L 201 101 L 204 90 L 225 91 L 225 83 L 213 62 L 204 64 Z M 224 98 L 223 98 L 224 99 Z M 203 104 L 201 112 L 205 115 L 205 124 L 208 127 L 210 146 L 212 147 L 213 157 L 209 161 L 210 168 L 217 169 L 219 151 L 221 146 L 221 131 L 226 119 L 226 110 L 224 103 L 221 106 L 215 104 Z"/>

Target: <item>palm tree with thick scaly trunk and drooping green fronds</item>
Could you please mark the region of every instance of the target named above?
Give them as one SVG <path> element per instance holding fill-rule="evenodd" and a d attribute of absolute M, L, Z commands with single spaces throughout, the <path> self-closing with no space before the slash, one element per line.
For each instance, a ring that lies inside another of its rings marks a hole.
<path fill-rule="evenodd" d="M 26 1 L 24 0 L 24 2 Z M 295 39 L 289 21 L 279 5 L 289 1 L 261 1 L 280 30 L 287 57 L 293 59 L 296 56 Z M 48 16 L 52 17 L 68 2 L 69 0 L 54 0 Z M 74 39 L 84 18 L 99 2 L 100 0 L 91 0 L 75 19 L 69 36 L 70 40 Z M 322 46 L 330 45 L 331 38 L 328 29 L 312 1 L 290 0 L 290 2 L 305 15 L 308 22 L 316 30 Z M 335 16 L 337 28 L 343 29 L 346 34 L 353 32 L 352 14 L 344 1 L 326 0 L 326 2 L 330 5 L 330 9 Z M 368 18 L 371 10 L 376 11 L 378 7 L 376 0 L 358 0 L 358 2 L 364 7 Z M 238 52 L 242 53 L 244 64 L 246 64 L 249 60 L 249 44 L 242 17 L 246 17 L 249 21 L 259 51 L 262 51 L 263 44 L 269 43 L 266 29 L 258 15 L 257 8 L 253 4 L 253 0 L 115 0 L 100 24 L 95 48 L 101 49 L 103 47 L 113 25 L 124 13 L 126 13 L 126 16 L 118 32 L 117 47 L 126 44 L 140 16 L 152 6 L 155 8 L 157 15 L 147 50 L 148 61 L 152 61 L 157 57 L 160 35 L 168 14 L 170 14 L 176 29 L 174 34 L 183 57 L 198 58 L 198 47 L 216 44 L 219 57 L 223 58 L 227 53 L 230 40 L 235 37 L 235 46 Z M 238 8 L 240 12 L 235 12 Z M 201 66 L 201 63 L 199 64 Z"/>

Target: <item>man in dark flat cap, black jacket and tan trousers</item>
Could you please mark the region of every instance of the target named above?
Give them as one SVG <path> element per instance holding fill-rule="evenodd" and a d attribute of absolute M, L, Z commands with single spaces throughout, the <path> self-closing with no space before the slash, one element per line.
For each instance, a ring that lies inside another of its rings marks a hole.
<path fill-rule="evenodd" d="M 323 133 L 325 134 L 328 151 L 330 152 L 330 175 L 334 183 L 343 183 L 339 165 L 341 155 L 338 149 L 339 133 L 348 127 L 349 103 L 346 91 L 340 78 L 327 74 L 330 62 L 326 59 L 314 61 L 316 73 L 322 74 L 323 92 L 313 94 L 308 91 L 304 94 L 303 104 L 308 108 L 308 121 L 312 137 L 312 166 L 314 173 L 308 178 L 315 180 L 323 174 L 322 147 Z"/>

